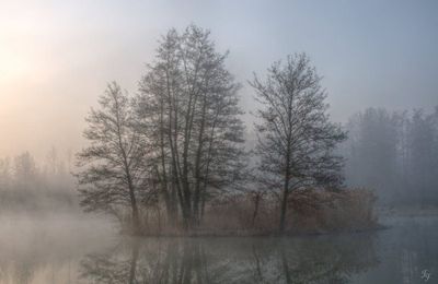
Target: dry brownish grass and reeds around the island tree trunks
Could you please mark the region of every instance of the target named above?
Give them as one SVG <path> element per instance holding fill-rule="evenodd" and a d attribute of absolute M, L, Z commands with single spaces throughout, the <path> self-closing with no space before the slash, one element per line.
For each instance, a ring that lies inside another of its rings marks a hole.
<path fill-rule="evenodd" d="M 145 235 L 152 236 L 266 236 L 276 235 L 279 220 L 278 200 L 265 194 L 255 211 L 254 193 L 215 200 L 206 208 L 196 229 L 185 230 L 181 223 L 170 224 L 163 209 L 142 212 Z M 290 194 L 287 234 L 355 232 L 377 227 L 373 213 L 376 196 L 366 189 L 336 192 L 316 189 Z M 127 232 L 126 228 L 124 232 Z"/>

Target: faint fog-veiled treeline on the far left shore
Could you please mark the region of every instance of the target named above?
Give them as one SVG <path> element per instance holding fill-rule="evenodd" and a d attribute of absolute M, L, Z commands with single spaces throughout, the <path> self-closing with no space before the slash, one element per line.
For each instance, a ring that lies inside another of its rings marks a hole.
<path fill-rule="evenodd" d="M 68 161 L 55 149 L 41 165 L 28 152 L 0 158 L 0 211 L 77 210 Z"/>

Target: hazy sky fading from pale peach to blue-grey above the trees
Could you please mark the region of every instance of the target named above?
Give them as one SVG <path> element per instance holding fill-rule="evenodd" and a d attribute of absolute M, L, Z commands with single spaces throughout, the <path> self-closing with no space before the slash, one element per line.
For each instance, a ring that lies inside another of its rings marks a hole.
<path fill-rule="evenodd" d="M 367 107 L 438 105 L 438 1 L 0 0 L 0 157 L 78 151 L 84 117 L 107 82 L 130 93 L 169 28 L 211 31 L 243 84 L 251 129 L 253 72 L 307 52 L 332 119 Z"/>

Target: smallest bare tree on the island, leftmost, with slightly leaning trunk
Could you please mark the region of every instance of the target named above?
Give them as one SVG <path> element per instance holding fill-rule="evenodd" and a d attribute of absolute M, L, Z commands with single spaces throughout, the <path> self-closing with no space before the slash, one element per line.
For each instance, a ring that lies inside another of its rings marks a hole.
<path fill-rule="evenodd" d="M 153 193 L 147 141 L 136 131 L 129 96 L 116 83 L 108 84 L 99 104 L 87 118 L 90 145 L 78 154 L 81 205 L 113 214 L 128 208 L 139 233 L 139 203 Z"/>

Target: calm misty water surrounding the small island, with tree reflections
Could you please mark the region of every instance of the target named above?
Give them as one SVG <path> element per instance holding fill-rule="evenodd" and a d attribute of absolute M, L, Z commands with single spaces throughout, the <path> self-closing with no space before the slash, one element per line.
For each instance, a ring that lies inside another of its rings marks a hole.
<path fill-rule="evenodd" d="M 132 239 L 89 216 L 36 220 L 0 217 L 0 283 L 438 283 L 438 217 L 284 239 Z"/>

